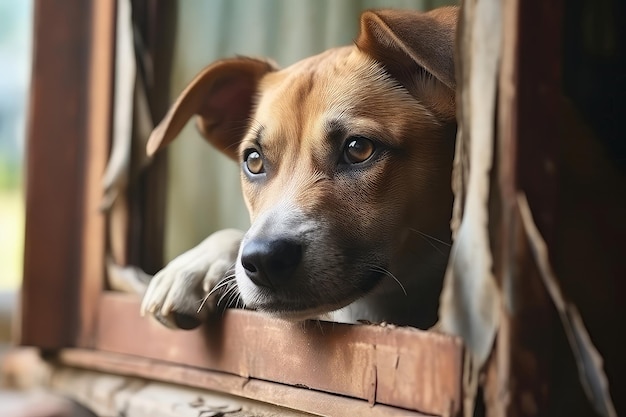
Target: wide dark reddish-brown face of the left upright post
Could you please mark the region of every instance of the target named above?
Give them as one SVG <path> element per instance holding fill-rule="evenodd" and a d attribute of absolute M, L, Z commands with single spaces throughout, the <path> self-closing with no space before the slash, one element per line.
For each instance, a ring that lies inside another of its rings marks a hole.
<path fill-rule="evenodd" d="M 78 329 L 91 6 L 35 3 L 20 342 L 43 348 Z"/>

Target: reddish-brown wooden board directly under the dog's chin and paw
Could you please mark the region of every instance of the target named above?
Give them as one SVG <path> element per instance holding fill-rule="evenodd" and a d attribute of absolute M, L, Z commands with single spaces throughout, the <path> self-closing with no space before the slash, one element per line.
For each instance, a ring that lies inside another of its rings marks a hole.
<path fill-rule="evenodd" d="M 291 323 L 244 310 L 228 310 L 221 320 L 184 332 L 138 312 L 136 298 L 105 294 L 97 348 L 428 414 L 460 410 L 463 348 L 450 336 L 393 326 Z"/>

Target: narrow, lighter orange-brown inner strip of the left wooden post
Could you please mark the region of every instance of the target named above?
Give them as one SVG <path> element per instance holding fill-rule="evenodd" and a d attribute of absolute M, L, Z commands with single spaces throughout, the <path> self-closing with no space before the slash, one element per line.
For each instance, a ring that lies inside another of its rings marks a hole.
<path fill-rule="evenodd" d="M 90 46 L 89 106 L 85 137 L 85 183 L 81 246 L 80 331 L 78 346 L 91 346 L 95 334 L 98 298 L 105 275 L 106 221 L 100 212 L 102 175 L 111 142 L 111 118 L 115 61 L 116 3 L 95 2 Z"/>

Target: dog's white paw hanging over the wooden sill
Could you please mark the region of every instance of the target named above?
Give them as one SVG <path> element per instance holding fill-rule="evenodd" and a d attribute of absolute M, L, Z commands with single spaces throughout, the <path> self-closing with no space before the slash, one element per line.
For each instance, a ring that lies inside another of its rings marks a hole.
<path fill-rule="evenodd" d="M 239 230 L 220 230 L 172 260 L 150 281 L 141 314 L 153 315 L 171 328 L 200 325 L 206 314 L 201 315 L 201 308 L 212 311 L 217 305 L 216 296 L 221 291 L 211 291 L 233 269 L 242 237 Z"/>

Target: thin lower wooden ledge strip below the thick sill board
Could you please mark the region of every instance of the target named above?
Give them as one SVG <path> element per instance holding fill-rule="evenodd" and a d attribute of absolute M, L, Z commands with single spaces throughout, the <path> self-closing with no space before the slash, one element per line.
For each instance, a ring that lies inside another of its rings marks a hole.
<path fill-rule="evenodd" d="M 303 387 L 292 387 L 189 366 L 172 365 L 163 361 L 137 358 L 135 356 L 65 349 L 59 352 L 57 360 L 59 364 L 63 365 L 61 369 L 75 367 L 106 372 L 107 374 L 141 377 L 150 381 L 166 381 L 203 390 L 227 393 L 314 415 L 337 417 L 345 415 L 360 417 L 425 417 L 425 414 L 415 411 L 381 404 L 372 406 L 363 400 L 330 395 Z M 69 380 L 75 380 L 82 384 L 82 380 L 76 378 L 70 378 Z M 125 386 L 128 385 L 130 384 L 125 384 Z M 136 384 L 134 385 L 136 386 Z M 180 397 L 178 400 L 180 402 Z"/>

